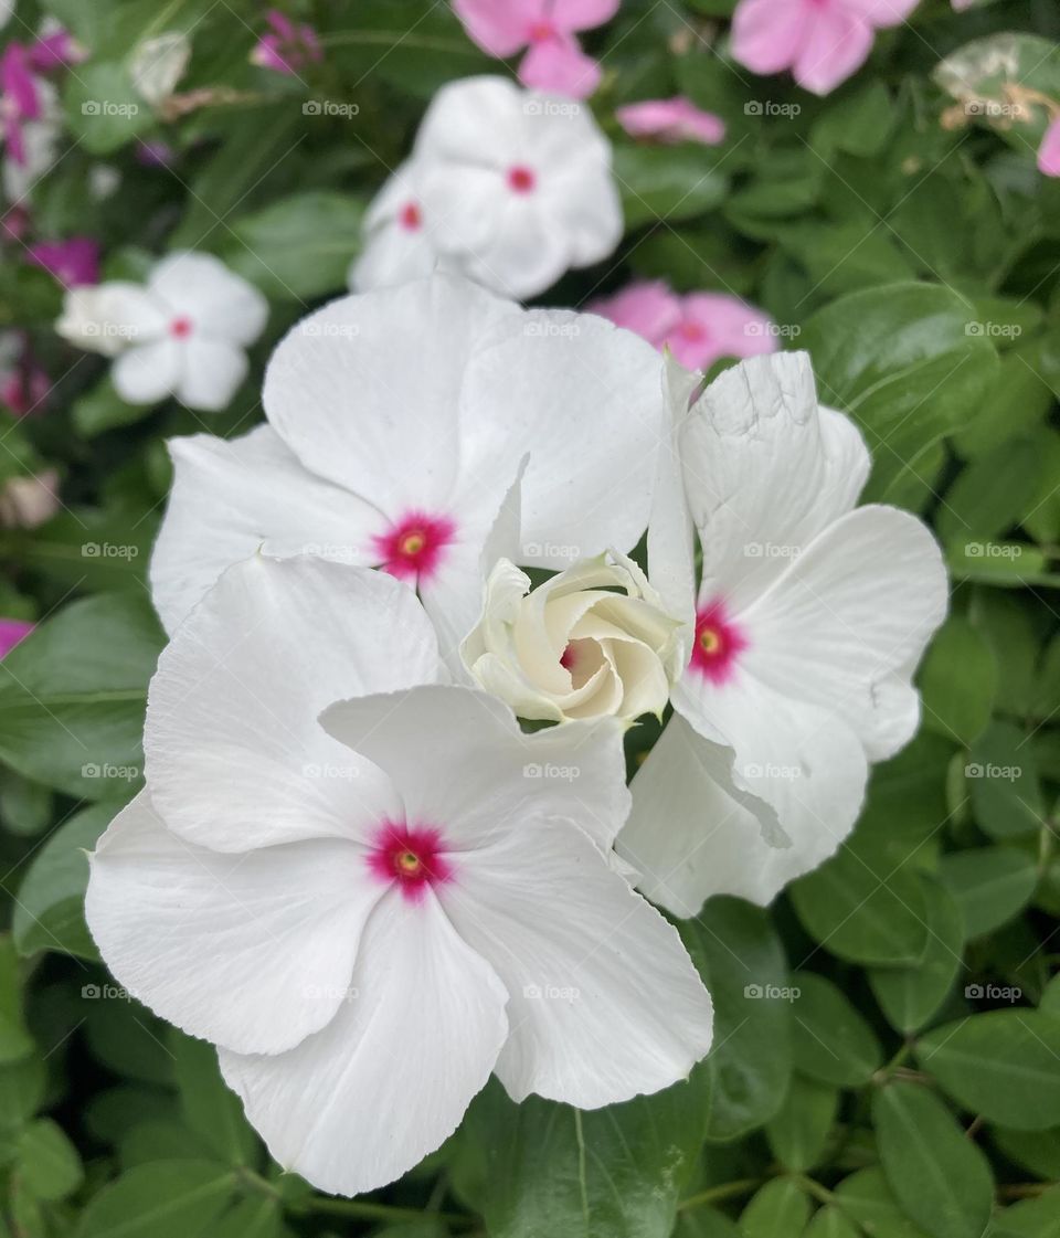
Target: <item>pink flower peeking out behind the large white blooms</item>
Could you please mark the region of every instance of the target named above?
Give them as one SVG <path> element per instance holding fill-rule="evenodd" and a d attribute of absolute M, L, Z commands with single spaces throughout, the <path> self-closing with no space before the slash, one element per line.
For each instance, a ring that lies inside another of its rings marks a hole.
<path fill-rule="evenodd" d="M 588 306 L 591 313 L 625 327 L 686 369 L 705 370 L 722 357 L 776 352 L 771 319 L 724 292 L 677 296 L 661 280 L 630 284 L 617 296 Z"/>

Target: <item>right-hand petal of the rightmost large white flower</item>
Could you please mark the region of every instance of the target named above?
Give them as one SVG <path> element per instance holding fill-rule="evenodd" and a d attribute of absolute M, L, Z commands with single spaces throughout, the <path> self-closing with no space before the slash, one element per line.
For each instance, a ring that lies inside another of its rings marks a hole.
<path fill-rule="evenodd" d="M 778 692 L 835 711 L 871 760 L 885 760 L 916 730 L 910 678 L 946 600 L 928 529 L 895 508 L 859 508 L 810 542 L 741 617 L 742 664 Z"/>

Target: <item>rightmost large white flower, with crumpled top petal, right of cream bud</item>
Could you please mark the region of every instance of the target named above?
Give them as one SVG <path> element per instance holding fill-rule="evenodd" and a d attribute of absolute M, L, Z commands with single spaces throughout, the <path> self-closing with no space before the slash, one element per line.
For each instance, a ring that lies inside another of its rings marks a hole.
<path fill-rule="evenodd" d="M 867 763 L 916 730 L 911 677 L 946 573 L 914 516 L 856 509 L 869 456 L 819 409 L 806 354 L 734 366 L 687 416 L 691 380 L 671 384 L 677 467 L 648 555 L 692 640 L 619 853 L 650 898 L 690 915 L 713 894 L 768 903 L 849 833 Z"/>

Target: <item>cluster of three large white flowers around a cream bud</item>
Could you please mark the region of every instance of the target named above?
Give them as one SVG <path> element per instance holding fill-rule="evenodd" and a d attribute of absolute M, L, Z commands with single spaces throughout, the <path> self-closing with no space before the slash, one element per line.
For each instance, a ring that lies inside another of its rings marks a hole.
<path fill-rule="evenodd" d="M 267 425 L 172 444 L 147 785 L 88 921 L 324 1190 L 402 1174 L 490 1073 L 583 1108 L 684 1078 L 711 1002 L 645 895 L 768 901 L 915 729 L 930 535 L 856 509 L 805 355 L 701 381 L 435 275 L 298 323 Z"/>

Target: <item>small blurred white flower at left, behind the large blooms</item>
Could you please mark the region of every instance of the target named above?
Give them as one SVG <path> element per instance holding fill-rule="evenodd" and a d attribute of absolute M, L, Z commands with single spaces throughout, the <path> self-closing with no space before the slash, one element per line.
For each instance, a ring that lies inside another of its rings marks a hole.
<path fill-rule="evenodd" d="M 246 376 L 244 349 L 267 317 L 261 293 L 219 259 L 181 251 L 163 258 L 145 286 L 71 288 L 56 329 L 116 358 L 114 386 L 129 404 L 175 395 L 189 409 L 217 412 Z"/>

